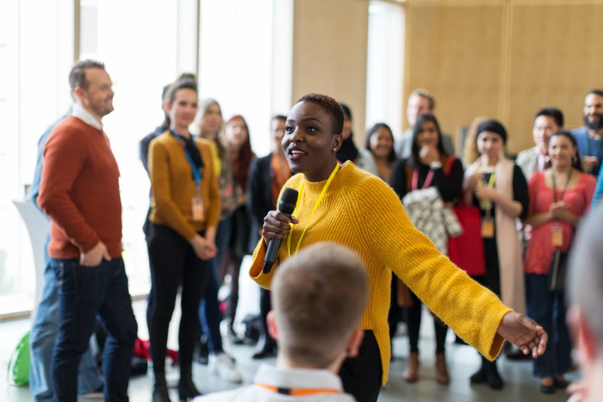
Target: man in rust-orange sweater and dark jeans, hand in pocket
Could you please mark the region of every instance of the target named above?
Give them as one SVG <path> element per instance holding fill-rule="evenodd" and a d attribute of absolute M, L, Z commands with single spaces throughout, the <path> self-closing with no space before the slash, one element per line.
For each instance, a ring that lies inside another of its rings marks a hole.
<path fill-rule="evenodd" d="M 76 402 L 78 362 L 99 315 L 109 334 L 105 400 L 128 401 L 137 324 L 121 259 L 119 168 L 101 123 L 113 111 L 112 82 L 103 63 L 84 60 L 69 84 L 76 103 L 44 146 L 38 196 L 51 218 L 50 263 L 60 283 L 55 400 Z"/>

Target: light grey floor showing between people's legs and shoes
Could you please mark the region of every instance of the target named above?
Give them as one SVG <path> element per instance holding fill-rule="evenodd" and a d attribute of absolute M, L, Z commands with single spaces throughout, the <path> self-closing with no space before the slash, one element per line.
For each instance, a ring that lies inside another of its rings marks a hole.
<path fill-rule="evenodd" d="M 141 338 L 146 338 L 145 322 L 146 303 L 134 303 L 134 313 L 139 322 L 139 333 Z M 175 315 L 177 319 L 177 313 Z M 173 320 L 173 323 L 176 322 Z M 0 367 L 6 367 L 10 353 L 15 348 L 19 338 L 29 326 L 28 320 L 17 320 L 0 323 Z M 170 345 L 177 347 L 175 340 L 177 325 L 171 325 Z M 538 380 L 532 376 L 532 362 L 512 362 L 505 358 L 499 361 L 502 377 L 505 379 L 505 388 L 502 391 L 492 391 L 485 385 L 470 385 L 469 376 L 479 367 L 480 360 L 477 353 L 467 346 L 458 346 L 452 343 L 453 336 L 449 333 L 447 344 L 448 369 L 451 374 L 451 383 L 448 386 L 439 385 L 435 382 L 434 356 L 435 348 L 433 341 L 433 324 L 428 313 L 423 314 L 423 327 L 421 328 L 420 348 L 421 354 L 421 378 L 418 383 L 408 384 L 403 381 L 402 371 L 405 358 L 408 356 L 408 338 L 399 336 L 394 340 L 395 360 L 390 365 L 390 377 L 387 385 L 381 391 L 379 402 L 393 401 L 449 401 L 449 402 L 498 402 L 498 401 L 566 401 L 567 396 L 562 391 L 553 395 L 544 395 L 538 391 Z M 252 346 L 230 346 L 226 345 L 229 353 L 236 357 L 238 368 L 243 373 L 245 384 L 252 383 L 254 372 L 259 362 L 251 359 Z M 274 363 L 272 360 L 264 362 Z M 236 384 L 223 381 L 207 372 L 207 366 L 196 365 L 194 367 L 195 383 L 204 393 L 228 390 L 236 387 Z M 575 378 L 577 374 L 572 373 L 568 378 Z M 177 378 L 177 369 L 168 373 L 169 378 Z M 130 381 L 130 401 L 148 402 L 152 390 L 152 378 L 139 376 Z M 177 392 L 172 391 L 173 401 L 177 401 Z M 30 401 L 30 393 L 27 387 L 13 387 L 8 385 L 6 375 L 0 375 L 0 401 L 25 402 Z M 80 401 L 91 401 L 91 399 L 80 399 Z"/>

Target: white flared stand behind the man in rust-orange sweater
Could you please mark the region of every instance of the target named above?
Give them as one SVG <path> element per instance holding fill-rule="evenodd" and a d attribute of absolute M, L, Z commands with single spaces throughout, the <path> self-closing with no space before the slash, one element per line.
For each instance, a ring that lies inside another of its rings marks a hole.
<path fill-rule="evenodd" d="M 33 263 L 35 265 L 35 302 L 34 306 L 40 303 L 42 298 L 42 289 L 44 288 L 44 245 L 46 236 L 50 231 L 50 222 L 46 220 L 40 209 L 37 209 L 30 200 L 12 200 L 15 207 L 19 210 L 21 219 L 25 222 L 33 252 Z M 35 317 L 35 311 L 31 317 Z"/>

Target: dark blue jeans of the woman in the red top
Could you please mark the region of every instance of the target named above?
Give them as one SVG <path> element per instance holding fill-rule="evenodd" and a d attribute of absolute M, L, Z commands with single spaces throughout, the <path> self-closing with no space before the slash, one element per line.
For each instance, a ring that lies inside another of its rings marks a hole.
<path fill-rule="evenodd" d="M 552 377 L 565 374 L 571 364 L 571 342 L 566 324 L 563 293 L 548 291 L 548 275 L 526 274 L 527 315 L 548 333 L 548 344 L 542 356 L 534 360 L 534 375 Z"/>

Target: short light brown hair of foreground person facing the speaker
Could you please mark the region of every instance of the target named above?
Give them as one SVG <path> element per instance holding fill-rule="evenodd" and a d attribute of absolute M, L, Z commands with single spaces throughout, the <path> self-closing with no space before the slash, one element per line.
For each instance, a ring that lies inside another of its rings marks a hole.
<path fill-rule="evenodd" d="M 306 247 L 272 279 L 279 349 L 297 364 L 329 367 L 358 329 L 368 299 L 365 266 L 335 243 Z"/>

